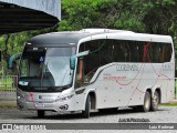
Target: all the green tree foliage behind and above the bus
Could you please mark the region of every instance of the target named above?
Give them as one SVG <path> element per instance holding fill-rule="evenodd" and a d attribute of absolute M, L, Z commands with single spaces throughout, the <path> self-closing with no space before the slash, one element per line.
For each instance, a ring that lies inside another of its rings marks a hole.
<path fill-rule="evenodd" d="M 108 28 L 169 34 L 177 45 L 176 0 L 62 0 L 62 21 L 51 29 L 2 35 L 0 49 L 12 55 L 31 37 L 51 31 Z M 177 53 L 177 48 L 176 48 Z M 6 62 L 3 61 L 3 65 Z"/>

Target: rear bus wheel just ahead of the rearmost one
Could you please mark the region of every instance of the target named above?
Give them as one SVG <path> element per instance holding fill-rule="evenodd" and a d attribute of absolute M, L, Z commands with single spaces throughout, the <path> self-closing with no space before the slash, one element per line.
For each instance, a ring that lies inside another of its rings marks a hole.
<path fill-rule="evenodd" d="M 150 93 L 146 91 L 145 98 L 144 98 L 144 104 L 140 106 L 140 111 L 148 112 L 150 109 Z"/>

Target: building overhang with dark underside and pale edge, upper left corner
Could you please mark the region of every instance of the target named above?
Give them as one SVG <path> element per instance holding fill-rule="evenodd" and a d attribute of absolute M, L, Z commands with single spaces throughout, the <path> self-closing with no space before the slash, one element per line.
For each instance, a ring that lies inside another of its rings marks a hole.
<path fill-rule="evenodd" d="M 55 25 L 61 0 L 0 0 L 0 34 Z"/>

